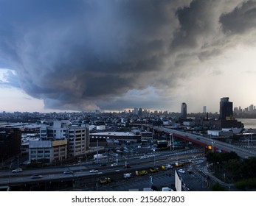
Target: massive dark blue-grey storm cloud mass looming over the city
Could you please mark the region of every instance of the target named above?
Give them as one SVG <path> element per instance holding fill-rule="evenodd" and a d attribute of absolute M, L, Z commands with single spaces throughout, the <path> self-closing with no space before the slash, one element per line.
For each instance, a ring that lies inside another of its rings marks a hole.
<path fill-rule="evenodd" d="M 221 53 L 220 23 L 234 31 L 229 15 L 239 14 L 229 1 L 0 3 L 1 64 L 45 107 L 69 110 L 121 109 L 131 90 L 154 88 L 161 96 L 176 88 L 193 74 L 187 65 Z M 139 95 L 140 107 L 159 102 Z"/>

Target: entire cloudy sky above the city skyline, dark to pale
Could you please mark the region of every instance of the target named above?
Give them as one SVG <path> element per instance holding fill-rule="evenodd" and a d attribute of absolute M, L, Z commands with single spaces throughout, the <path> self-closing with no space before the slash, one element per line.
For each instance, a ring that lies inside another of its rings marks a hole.
<path fill-rule="evenodd" d="M 256 1 L 0 5 L 0 112 L 256 104 Z"/>

